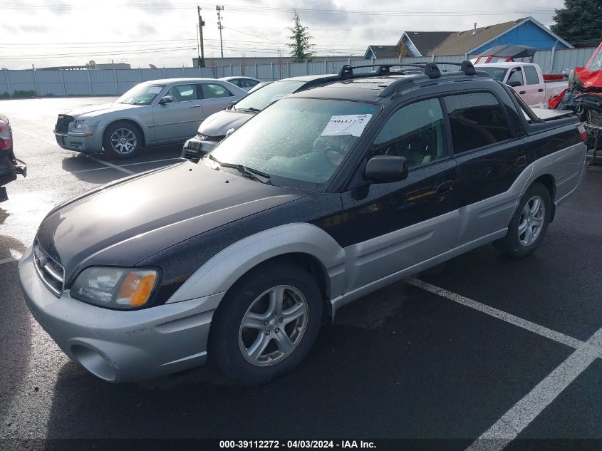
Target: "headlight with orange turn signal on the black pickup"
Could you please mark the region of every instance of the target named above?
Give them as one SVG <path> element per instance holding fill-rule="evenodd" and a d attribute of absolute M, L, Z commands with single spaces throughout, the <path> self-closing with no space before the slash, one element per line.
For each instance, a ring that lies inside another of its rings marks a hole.
<path fill-rule="evenodd" d="M 154 268 L 90 267 L 71 286 L 71 296 L 109 309 L 137 309 L 144 306 L 159 284 Z"/>

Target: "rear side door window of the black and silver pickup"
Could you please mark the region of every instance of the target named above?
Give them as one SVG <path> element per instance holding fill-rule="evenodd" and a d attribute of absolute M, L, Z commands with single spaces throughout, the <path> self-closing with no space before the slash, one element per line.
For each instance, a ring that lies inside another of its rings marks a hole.
<path fill-rule="evenodd" d="M 504 109 L 492 93 L 450 95 L 444 101 L 454 153 L 512 138 Z"/>

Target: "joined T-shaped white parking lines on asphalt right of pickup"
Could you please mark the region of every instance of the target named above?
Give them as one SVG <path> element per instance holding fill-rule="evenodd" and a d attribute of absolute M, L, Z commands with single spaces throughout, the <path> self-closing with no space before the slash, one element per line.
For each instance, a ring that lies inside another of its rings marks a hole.
<path fill-rule="evenodd" d="M 527 331 L 537 333 L 558 343 L 574 348 L 574 353 L 566 358 L 554 371 L 541 380 L 533 390 L 519 400 L 507 413 L 502 415 L 492 427 L 472 442 L 466 451 L 501 451 L 514 440 L 548 405 L 583 373 L 596 358 L 602 358 L 602 328 L 588 339 L 581 341 L 564 333 L 553 331 L 526 319 L 519 318 L 505 311 L 481 304 L 460 294 L 452 293 L 419 279 L 410 278 L 408 284 L 443 296 L 471 309 L 481 311 L 494 318 L 514 324 Z"/>

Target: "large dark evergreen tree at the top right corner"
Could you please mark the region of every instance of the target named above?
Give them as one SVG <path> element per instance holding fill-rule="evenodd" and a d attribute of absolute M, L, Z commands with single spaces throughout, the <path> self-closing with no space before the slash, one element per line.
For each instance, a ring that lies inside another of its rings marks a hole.
<path fill-rule="evenodd" d="M 550 28 L 575 47 L 597 46 L 602 40 L 602 0 L 564 0 Z"/>

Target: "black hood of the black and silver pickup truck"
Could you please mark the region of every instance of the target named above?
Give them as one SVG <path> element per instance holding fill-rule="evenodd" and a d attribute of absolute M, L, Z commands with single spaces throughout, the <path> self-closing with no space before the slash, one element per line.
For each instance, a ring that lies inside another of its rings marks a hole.
<path fill-rule="evenodd" d="M 192 162 L 100 187 L 53 209 L 36 239 L 65 269 L 134 266 L 167 247 L 304 197 Z"/>

